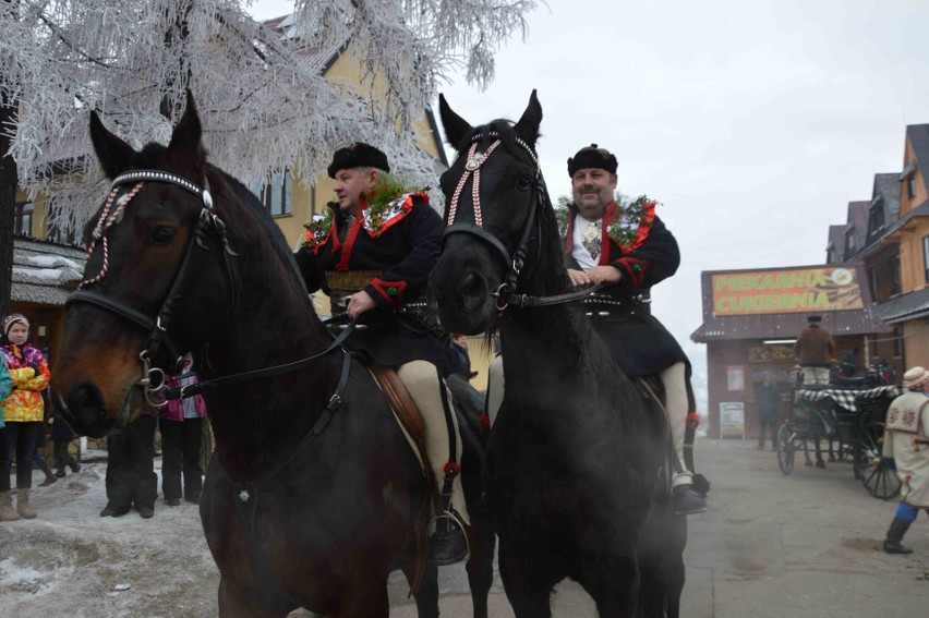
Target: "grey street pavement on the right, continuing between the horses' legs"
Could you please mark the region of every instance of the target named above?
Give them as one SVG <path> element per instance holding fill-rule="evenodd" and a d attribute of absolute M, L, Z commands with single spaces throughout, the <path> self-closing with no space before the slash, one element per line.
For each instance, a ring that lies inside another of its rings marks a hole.
<path fill-rule="evenodd" d="M 784 476 L 776 453 L 755 440 L 702 439 L 697 465 L 712 489 L 709 510 L 689 518 L 684 618 L 929 616 L 929 521 L 918 519 L 904 540 L 914 554 L 884 554 L 897 501 L 868 495 L 850 463 L 806 468 L 798 456 Z M 471 616 L 463 567 L 439 575 L 443 617 Z M 577 583 L 556 591 L 555 617 L 595 616 Z M 391 617 L 415 617 L 399 573 L 390 595 Z M 499 578 L 490 603 L 492 617 L 512 616 Z"/>

